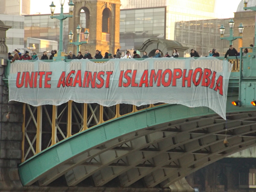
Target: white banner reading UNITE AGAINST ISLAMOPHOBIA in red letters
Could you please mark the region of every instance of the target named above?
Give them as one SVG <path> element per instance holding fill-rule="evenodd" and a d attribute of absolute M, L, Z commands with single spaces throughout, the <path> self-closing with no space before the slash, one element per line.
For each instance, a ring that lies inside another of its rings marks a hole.
<path fill-rule="evenodd" d="M 212 57 L 15 61 L 10 67 L 9 100 L 33 106 L 73 100 L 108 107 L 164 102 L 209 107 L 226 119 L 231 69 L 228 61 Z"/>

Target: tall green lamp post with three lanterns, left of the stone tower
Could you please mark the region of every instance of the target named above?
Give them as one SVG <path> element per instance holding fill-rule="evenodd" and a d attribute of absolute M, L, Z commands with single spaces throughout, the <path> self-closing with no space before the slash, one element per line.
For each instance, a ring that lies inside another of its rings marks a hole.
<path fill-rule="evenodd" d="M 69 5 L 69 15 L 64 15 L 63 14 L 63 6 L 65 3 L 65 0 L 60 0 L 61 3 L 61 13 L 60 15 L 53 15 L 54 10 L 55 10 L 55 5 L 52 4 L 50 5 L 50 9 L 51 9 L 51 18 L 56 18 L 58 20 L 60 20 L 60 39 L 59 39 L 59 51 L 58 51 L 58 57 L 59 59 L 61 59 L 61 52 L 63 52 L 63 20 L 67 19 L 67 17 L 73 17 L 73 9 L 75 4 L 73 3 L 73 0 L 70 0 Z M 64 59 L 64 58 L 63 58 Z"/>

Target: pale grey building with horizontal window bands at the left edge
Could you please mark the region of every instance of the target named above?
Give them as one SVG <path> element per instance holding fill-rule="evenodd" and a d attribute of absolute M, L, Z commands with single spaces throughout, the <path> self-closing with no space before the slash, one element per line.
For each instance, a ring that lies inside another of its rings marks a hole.
<path fill-rule="evenodd" d="M 14 49 L 20 49 L 20 52 L 23 52 L 24 16 L 0 14 L 0 18 L 6 26 L 12 27 L 6 31 L 6 45 L 9 52 L 13 52 Z"/>

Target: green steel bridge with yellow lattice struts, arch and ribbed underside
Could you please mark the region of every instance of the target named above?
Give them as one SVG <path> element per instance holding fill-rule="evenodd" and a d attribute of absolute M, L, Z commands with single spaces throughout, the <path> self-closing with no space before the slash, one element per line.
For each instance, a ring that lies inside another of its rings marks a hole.
<path fill-rule="evenodd" d="M 163 103 L 109 108 L 73 101 L 60 106 L 23 104 L 23 185 L 47 186 L 64 177 L 68 186 L 93 180 L 96 187 L 111 181 L 129 187 L 143 180 L 148 188 L 167 188 L 255 146 L 256 108 L 249 105 L 255 97 L 254 54 L 243 62 L 229 58 L 234 66 L 227 120 L 207 107 Z M 241 107 L 231 104 L 238 99 Z"/>

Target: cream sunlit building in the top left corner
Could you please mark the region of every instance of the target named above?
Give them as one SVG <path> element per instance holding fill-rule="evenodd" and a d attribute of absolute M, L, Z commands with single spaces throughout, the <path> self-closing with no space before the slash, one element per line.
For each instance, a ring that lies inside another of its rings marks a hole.
<path fill-rule="evenodd" d="M 30 0 L 0 0 L 0 14 L 29 15 Z"/>

